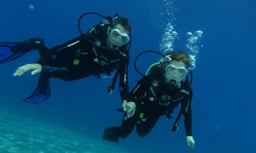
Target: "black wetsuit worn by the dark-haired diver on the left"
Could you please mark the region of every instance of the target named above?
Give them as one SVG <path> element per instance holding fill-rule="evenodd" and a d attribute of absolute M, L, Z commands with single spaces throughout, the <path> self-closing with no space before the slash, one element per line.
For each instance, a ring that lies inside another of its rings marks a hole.
<path fill-rule="evenodd" d="M 116 70 L 116 78 L 117 75 L 120 78 L 121 99 L 124 100 L 129 92 L 127 80 L 129 52 L 127 44 L 119 49 L 108 49 L 106 45 L 107 28 L 108 25 L 96 25 L 85 34 L 87 39 L 84 36 L 79 36 L 49 50 L 43 43 L 41 46 L 38 45 L 37 49 L 41 53 L 41 58 L 36 63 L 43 65 L 43 70 L 37 88 L 45 90 L 46 87 L 41 86 L 47 84 L 51 77 L 72 81 L 86 78 L 89 75 L 100 78 L 104 74 L 104 77 L 107 78 Z"/>

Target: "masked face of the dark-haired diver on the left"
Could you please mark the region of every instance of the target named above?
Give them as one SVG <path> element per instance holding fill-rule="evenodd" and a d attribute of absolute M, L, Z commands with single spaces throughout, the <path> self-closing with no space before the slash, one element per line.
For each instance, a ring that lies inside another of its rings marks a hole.
<path fill-rule="evenodd" d="M 129 30 L 123 28 L 121 24 L 116 25 L 108 32 L 108 44 L 111 48 L 113 46 L 118 48 L 122 47 L 124 44 L 127 44 L 129 40 Z"/>

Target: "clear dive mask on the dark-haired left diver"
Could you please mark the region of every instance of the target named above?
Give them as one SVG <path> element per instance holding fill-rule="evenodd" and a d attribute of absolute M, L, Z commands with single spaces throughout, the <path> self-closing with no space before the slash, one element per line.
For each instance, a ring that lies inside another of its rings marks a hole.
<path fill-rule="evenodd" d="M 130 40 L 130 37 L 128 36 L 128 34 L 126 32 L 124 32 L 123 30 L 114 28 L 111 30 L 110 32 L 110 38 L 116 42 L 116 44 L 127 44 Z"/>

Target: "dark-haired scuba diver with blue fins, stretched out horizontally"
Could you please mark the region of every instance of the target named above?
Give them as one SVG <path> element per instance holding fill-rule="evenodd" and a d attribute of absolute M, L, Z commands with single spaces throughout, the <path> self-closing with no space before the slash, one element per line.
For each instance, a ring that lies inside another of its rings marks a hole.
<path fill-rule="evenodd" d="M 111 78 L 108 93 L 112 93 L 119 76 L 119 92 L 121 99 L 129 93 L 128 65 L 129 48 L 131 44 L 131 23 L 127 18 L 108 16 L 100 24 L 95 25 L 87 33 L 81 32 L 80 21 L 86 15 L 98 13 L 84 13 L 78 22 L 81 36 L 69 40 L 64 44 L 48 49 L 41 38 L 30 38 L 23 42 L 0 42 L 0 63 L 6 63 L 21 57 L 32 50 L 38 50 L 41 58 L 35 63 L 28 63 L 18 67 L 14 76 L 32 71 L 40 73 L 37 88 L 24 102 L 39 103 L 50 96 L 49 78 L 64 81 L 79 80 L 94 75 L 97 78 Z M 114 75 L 113 75 L 114 74 Z"/>

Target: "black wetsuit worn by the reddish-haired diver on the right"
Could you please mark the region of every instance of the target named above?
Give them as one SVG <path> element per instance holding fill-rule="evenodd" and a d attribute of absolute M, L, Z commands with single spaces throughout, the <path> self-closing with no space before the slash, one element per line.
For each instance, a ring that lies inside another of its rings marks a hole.
<path fill-rule="evenodd" d="M 179 104 L 182 106 L 180 113 L 184 116 L 186 135 L 192 135 L 192 89 L 189 86 L 173 86 L 163 80 L 163 77 L 153 78 L 148 75 L 137 83 L 128 98 L 128 101 L 136 104 L 135 114 L 130 119 L 123 119 L 121 127 L 106 128 L 104 140 L 119 142 L 119 137 L 127 137 L 135 126 L 137 133 L 144 137 L 152 130 L 161 115 L 169 116 Z"/>

